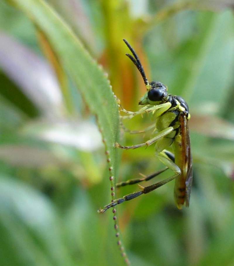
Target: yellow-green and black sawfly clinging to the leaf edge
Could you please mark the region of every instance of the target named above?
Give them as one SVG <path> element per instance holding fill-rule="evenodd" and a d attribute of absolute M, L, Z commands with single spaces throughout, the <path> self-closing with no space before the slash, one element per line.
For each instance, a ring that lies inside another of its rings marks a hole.
<path fill-rule="evenodd" d="M 140 99 L 139 105 L 144 105 L 137 112 L 130 112 L 125 110 L 119 100 L 118 106 L 120 111 L 126 113 L 126 116 L 122 116 L 122 119 L 133 118 L 135 115 L 143 113 L 153 113 L 155 124 L 148 127 L 145 131 L 154 128 L 154 137 L 147 140 L 144 143 L 123 146 L 119 143 L 115 143 L 116 148 L 121 149 L 136 149 L 142 146 L 149 146 L 155 143 L 156 157 L 166 166 L 163 170 L 143 176 L 140 179 L 130 179 L 125 182 L 116 184 L 116 187 L 122 187 L 125 185 L 136 184 L 142 181 L 147 181 L 166 171 L 171 169 L 174 174 L 167 179 L 164 179 L 155 184 L 147 187 L 140 186 L 140 191 L 133 192 L 125 195 L 122 198 L 113 200 L 110 204 L 104 206 L 103 209 L 99 209 L 98 212 L 103 213 L 107 209 L 121 204 L 124 201 L 134 199 L 142 194 L 149 193 L 158 187 L 175 179 L 174 186 L 174 199 L 178 209 L 182 209 L 182 206 L 189 206 L 190 192 L 192 186 L 192 156 L 190 150 L 190 135 L 188 129 L 188 120 L 190 114 L 188 111 L 188 105 L 185 100 L 180 96 L 174 96 L 168 94 L 166 85 L 161 82 L 152 81 L 149 82 L 146 78 L 143 66 L 131 47 L 131 45 L 124 39 L 125 44 L 133 55 L 126 54 L 130 60 L 134 63 L 137 69 L 140 71 L 147 92 Z M 142 133 L 144 131 L 132 131 L 132 133 Z M 174 154 L 168 151 L 168 147 L 172 145 Z"/>

